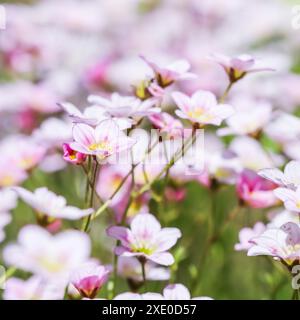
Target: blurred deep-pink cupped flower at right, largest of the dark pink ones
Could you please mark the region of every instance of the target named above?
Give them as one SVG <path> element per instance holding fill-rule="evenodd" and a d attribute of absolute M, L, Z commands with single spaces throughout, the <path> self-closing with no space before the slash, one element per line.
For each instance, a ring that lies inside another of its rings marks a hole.
<path fill-rule="evenodd" d="M 266 181 L 254 171 L 245 169 L 237 181 L 237 193 L 240 199 L 252 208 L 267 208 L 278 201 L 273 194 L 277 187 L 272 182 Z"/>

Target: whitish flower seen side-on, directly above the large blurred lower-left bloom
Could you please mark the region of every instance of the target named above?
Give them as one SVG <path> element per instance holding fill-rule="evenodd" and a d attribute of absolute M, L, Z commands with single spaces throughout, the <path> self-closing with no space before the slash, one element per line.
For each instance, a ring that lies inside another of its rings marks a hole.
<path fill-rule="evenodd" d="M 68 206 L 63 196 L 56 195 L 46 187 L 38 188 L 34 192 L 30 192 L 21 187 L 15 187 L 14 190 L 40 217 L 77 220 L 94 211 L 92 208 L 81 210 L 73 206 Z"/>

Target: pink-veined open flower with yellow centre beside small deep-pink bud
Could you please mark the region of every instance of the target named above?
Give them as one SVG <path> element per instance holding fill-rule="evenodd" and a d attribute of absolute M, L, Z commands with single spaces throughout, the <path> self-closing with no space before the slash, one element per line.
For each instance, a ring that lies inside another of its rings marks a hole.
<path fill-rule="evenodd" d="M 104 120 L 96 128 L 77 124 L 73 128 L 73 138 L 74 142 L 70 143 L 73 150 L 97 156 L 100 160 L 128 150 L 135 143 L 120 131 L 113 120 Z"/>

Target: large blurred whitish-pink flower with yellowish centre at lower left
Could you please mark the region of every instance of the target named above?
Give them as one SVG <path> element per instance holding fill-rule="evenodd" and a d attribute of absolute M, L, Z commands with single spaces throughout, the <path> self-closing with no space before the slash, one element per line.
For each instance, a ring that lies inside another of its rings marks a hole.
<path fill-rule="evenodd" d="M 67 284 L 70 272 L 89 259 L 90 238 L 86 233 L 68 230 L 51 235 L 36 225 L 23 227 L 17 244 L 3 250 L 7 265 Z"/>

